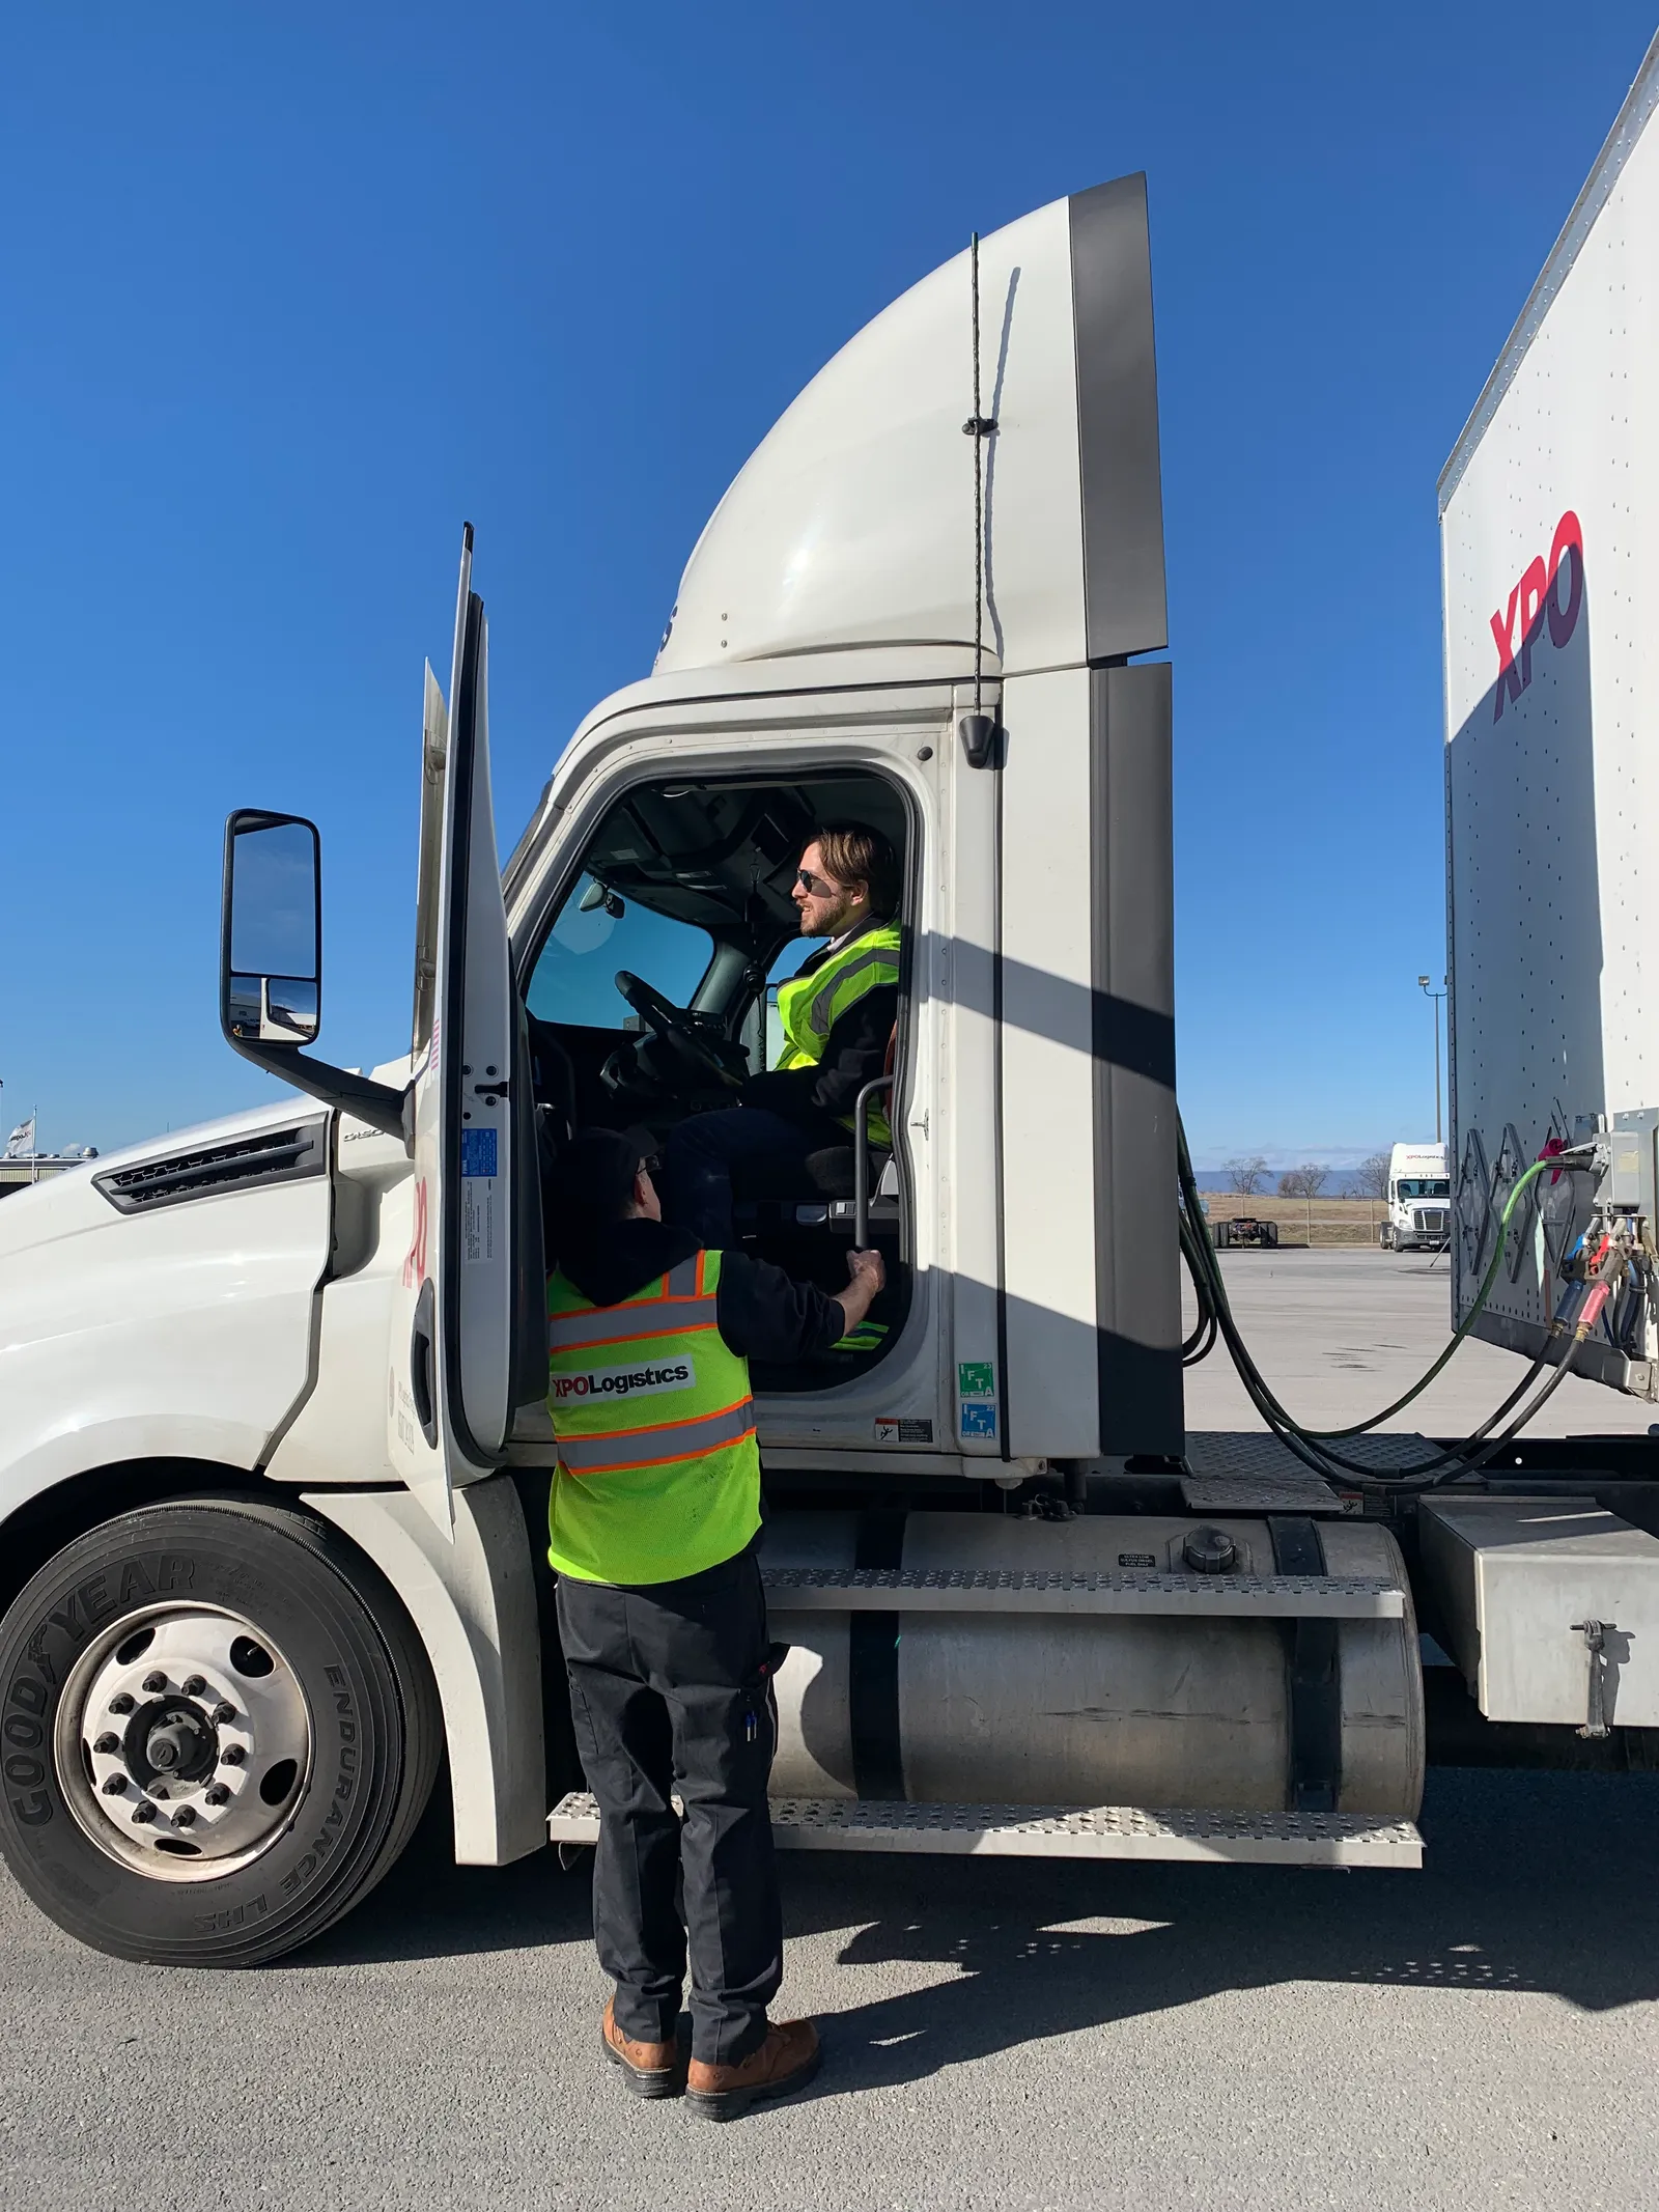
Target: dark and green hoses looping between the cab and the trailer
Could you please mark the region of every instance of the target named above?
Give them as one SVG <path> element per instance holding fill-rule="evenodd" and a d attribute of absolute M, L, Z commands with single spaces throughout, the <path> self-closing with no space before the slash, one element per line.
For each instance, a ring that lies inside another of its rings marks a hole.
<path fill-rule="evenodd" d="M 1334 1482 L 1343 1489 L 1360 1489 L 1360 1491 L 1433 1489 L 1440 1482 L 1451 1482 L 1455 1475 L 1478 1473 L 1489 1460 L 1493 1460 L 1504 1449 L 1504 1444 L 1515 1440 L 1515 1436 L 1540 1411 L 1546 1398 L 1551 1398 L 1551 1394 L 1562 1387 L 1577 1356 L 1579 1345 L 1588 1338 L 1590 1329 L 1595 1327 L 1601 1314 L 1601 1307 L 1606 1305 L 1608 1292 L 1613 1290 L 1610 1279 L 1590 1283 L 1586 1287 L 1579 1301 L 1577 1318 L 1571 1325 L 1571 1340 L 1564 1345 L 1559 1360 L 1555 1360 L 1548 1380 L 1531 1400 L 1531 1405 L 1526 1405 L 1500 1436 L 1493 1436 L 1491 1431 L 1498 1427 L 1500 1420 L 1504 1420 L 1509 1411 L 1513 1411 L 1517 1400 L 1531 1389 L 1542 1369 L 1548 1365 L 1548 1352 L 1555 1338 L 1566 1336 L 1568 1323 L 1564 1314 L 1557 1314 L 1555 1321 L 1551 1323 L 1544 1349 L 1531 1363 L 1520 1385 L 1480 1425 L 1480 1429 L 1473 1431 L 1473 1436 L 1462 1438 L 1458 1444 L 1436 1453 L 1431 1460 L 1425 1460 L 1418 1467 L 1400 1467 L 1387 1471 L 1376 1467 L 1365 1467 L 1356 1460 L 1345 1458 L 1334 1447 L 1338 1442 L 1345 1442 L 1347 1438 L 1365 1436 L 1367 1431 L 1378 1429 L 1402 1407 L 1411 1405 L 1411 1400 L 1418 1398 L 1433 1383 L 1433 1378 L 1442 1371 L 1442 1367 L 1458 1349 L 1458 1345 L 1469 1336 L 1469 1332 L 1475 1325 L 1475 1318 L 1480 1316 L 1482 1307 L 1486 1305 L 1486 1298 L 1491 1296 L 1491 1287 L 1498 1279 L 1498 1267 L 1504 1256 L 1504 1239 L 1509 1234 L 1509 1223 L 1515 1214 L 1515 1208 L 1522 1201 L 1522 1194 L 1533 1186 L 1533 1181 L 1546 1168 L 1551 1168 L 1557 1175 L 1586 1172 L 1588 1168 L 1593 1168 L 1593 1157 L 1588 1148 L 1584 1148 L 1579 1157 L 1575 1157 L 1573 1152 L 1555 1152 L 1546 1159 L 1537 1159 L 1517 1177 L 1515 1188 L 1511 1190 L 1498 1223 L 1498 1237 L 1493 1239 L 1493 1254 L 1491 1261 L 1486 1263 L 1486 1274 L 1480 1281 L 1480 1290 L 1475 1292 L 1469 1312 L 1458 1323 L 1451 1343 L 1433 1360 L 1433 1365 L 1411 1385 L 1411 1389 L 1405 1391 L 1402 1398 L 1396 1398 L 1394 1405 L 1383 1407 L 1380 1413 L 1374 1413 L 1369 1420 L 1356 1422 L 1349 1429 L 1303 1429 L 1294 1420 L 1294 1416 L 1285 1411 L 1285 1407 L 1270 1389 L 1267 1380 L 1263 1378 L 1261 1369 L 1250 1356 L 1250 1347 L 1239 1334 L 1237 1321 L 1232 1318 L 1232 1307 L 1228 1305 L 1228 1287 L 1225 1281 L 1221 1279 L 1221 1263 L 1214 1256 L 1214 1245 L 1210 1243 L 1208 1230 L 1203 1225 L 1199 1188 L 1192 1175 L 1192 1159 L 1186 1146 L 1186 1130 L 1181 1128 L 1179 1119 L 1177 1119 L 1177 1164 L 1179 1164 L 1179 1194 L 1181 1194 L 1181 1206 L 1179 1206 L 1181 1256 L 1186 1261 L 1188 1274 L 1192 1276 L 1192 1290 L 1199 1303 L 1197 1327 L 1181 1345 L 1181 1365 L 1186 1367 L 1197 1365 L 1197 1360 L 1201 1360 L 1212 1349 L 1217 1336 L 1221 1336 L 1232 1358 L 1232 1365 L 1239 1369 L 1239 1380 L 1243 1383 L 1250 1402 L 1256 1407 L 1267 1429 L 1305 1467 L 1310 1467 L 1314 1473 L 1323 1475 L 1327 1482 Z"/>

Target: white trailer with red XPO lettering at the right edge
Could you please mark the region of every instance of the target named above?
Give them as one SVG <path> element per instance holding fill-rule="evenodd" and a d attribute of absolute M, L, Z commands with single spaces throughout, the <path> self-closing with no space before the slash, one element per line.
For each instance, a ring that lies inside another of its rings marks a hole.
<path fill-rule="evenodd" d="M 1655 104 L 1659 42 L 1440 478 L 1455 1312 L 1522 1168 L 1551 1141 L 1606 1133 L 1604 1190 L 1562 1177 L 1528 1192 L 1478 1332 L 1535 1356 L 1579 1237 L 1617 1206 L 1637 1265 L 1579 1369 L 1646 1398 L 1659 1394 Z"/>

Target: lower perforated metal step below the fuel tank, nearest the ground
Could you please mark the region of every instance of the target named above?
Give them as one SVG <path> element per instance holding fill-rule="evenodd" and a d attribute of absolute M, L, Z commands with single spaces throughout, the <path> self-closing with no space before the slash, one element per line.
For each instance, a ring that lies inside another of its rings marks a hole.
<path fill-rule="evenodd" d="M 597 1843 L 591 1796 L 560 1798 L 553 1843 Z M 772 1798 L 792 1851 L 942 1851 L 973 1858 L 1186 1858 L 1234 1867 L 1420 1867 L 1411 1820 L 1303 1812 L 1148 1812 L 1141 1805 L 883 1805 Z"/>

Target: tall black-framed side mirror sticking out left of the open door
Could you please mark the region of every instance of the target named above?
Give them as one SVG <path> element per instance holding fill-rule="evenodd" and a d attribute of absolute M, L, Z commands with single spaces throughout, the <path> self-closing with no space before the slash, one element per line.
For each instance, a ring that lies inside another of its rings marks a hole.
<path fill-rule="evenodd" d="M 226 823 L 219 1024 L 230 1044 L 312 1044 L 323 1026 L 323 843 L 299 814 Z"/>

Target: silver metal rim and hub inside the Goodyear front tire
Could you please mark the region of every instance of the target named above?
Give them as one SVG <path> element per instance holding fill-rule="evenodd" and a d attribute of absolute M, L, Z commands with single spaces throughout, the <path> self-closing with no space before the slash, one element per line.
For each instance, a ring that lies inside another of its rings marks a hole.
<path fill-rule="evenodd" d="M 252 1621 L 133 1615 L 82 1652 L 58 1719 L 75 1818 L 157 1880 L 230 1874 L 290 1825 L 312 1763 L 305 1694 Z"/>

